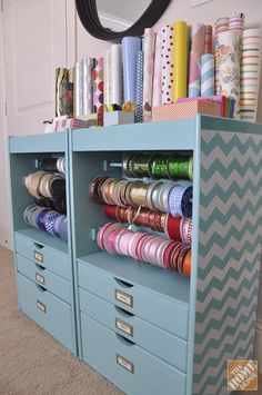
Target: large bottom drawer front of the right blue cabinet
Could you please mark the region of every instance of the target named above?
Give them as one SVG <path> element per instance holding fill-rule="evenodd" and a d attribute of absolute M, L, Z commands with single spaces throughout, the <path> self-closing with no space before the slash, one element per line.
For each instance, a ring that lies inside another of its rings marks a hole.
<path fill-rule="evenodd" d="M 185 374 L 81 314 L 83 358 L 132 395 L 184 395 Z"/>

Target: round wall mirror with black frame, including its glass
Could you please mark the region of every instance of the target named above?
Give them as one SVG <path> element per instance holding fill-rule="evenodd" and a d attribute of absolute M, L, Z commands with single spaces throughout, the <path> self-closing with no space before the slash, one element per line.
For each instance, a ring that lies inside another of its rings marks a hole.
<path fill-rule="evenodd" d="M 142 36 L 165 11 L 171 0 L 75 0 L 84 29 L 100 40 Z"/>

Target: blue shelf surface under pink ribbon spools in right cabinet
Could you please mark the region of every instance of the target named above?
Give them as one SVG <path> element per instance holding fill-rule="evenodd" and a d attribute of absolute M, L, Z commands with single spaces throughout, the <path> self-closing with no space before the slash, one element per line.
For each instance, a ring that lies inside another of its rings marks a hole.
<path fill-rule="evenodd" d="M 151 264 L 103 251 L 85 255 L 78 260 L 110 273 L 123 282 L 131 282 L 189 305 L 190 279 L 177 271 L 169 271 Z"/>

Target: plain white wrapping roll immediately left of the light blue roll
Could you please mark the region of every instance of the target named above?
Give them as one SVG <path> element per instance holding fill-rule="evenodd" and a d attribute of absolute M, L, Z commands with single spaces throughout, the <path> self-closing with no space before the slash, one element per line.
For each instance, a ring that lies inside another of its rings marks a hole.
<path fill-rule="evenodd" d="M 111 46 L 111 103 L 121 106 L 123 101 L 122 46 Z"/>

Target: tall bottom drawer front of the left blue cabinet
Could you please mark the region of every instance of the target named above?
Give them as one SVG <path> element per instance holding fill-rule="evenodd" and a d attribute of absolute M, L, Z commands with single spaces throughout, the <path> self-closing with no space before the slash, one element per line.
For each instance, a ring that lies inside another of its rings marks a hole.
<path fill-rule="evenodd" d="M 72 350 L 70 305 L 23 275 L 18 273 L 17 277 L 22 312 Z"/>

